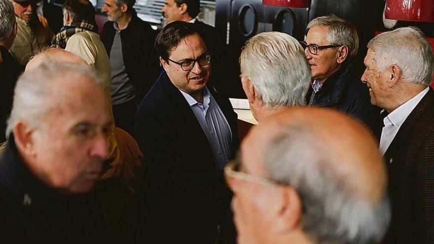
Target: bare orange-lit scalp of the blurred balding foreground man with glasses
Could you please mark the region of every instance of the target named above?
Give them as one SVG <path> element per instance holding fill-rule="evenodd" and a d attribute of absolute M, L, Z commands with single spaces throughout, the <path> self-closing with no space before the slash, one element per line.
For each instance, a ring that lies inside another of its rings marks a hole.
<path fill-rule="evenodd" d="M 372 201 L 383 195 L 386 171 L 382 157 L 376 140 L 360 122 L 329 109 L 304 107 L 278 113 L 265 123 L 252 131 L 243 149 L 250 143 L 271 143 L 295 129 L 300 137 L 313 140 L 310 149 L 316 155 L 312 156 L 318 157 L 323 167 L 333 169 L 336 177 L 349 179 L 347 187 L 357 195 Z"/>

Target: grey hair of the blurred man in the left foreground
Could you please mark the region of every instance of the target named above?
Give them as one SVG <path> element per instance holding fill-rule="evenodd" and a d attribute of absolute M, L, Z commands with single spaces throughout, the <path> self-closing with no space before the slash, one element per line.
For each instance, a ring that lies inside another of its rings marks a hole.
<path fill-rule="evenodd" d="M 69 74 L 88 77 L 104 89 L 105 79 L 86 65 L 44 61 L 36 69 L 23 73 L 18 79 L 12 111 L 7 120 L 6 137 L 9 137 L 19 120 L 25 120 L 31 128 L 37 128 L 42 118 L 56 106 L 49 102 L 50 94 L 53 93 L 52 83 L 66 79 Z"/>

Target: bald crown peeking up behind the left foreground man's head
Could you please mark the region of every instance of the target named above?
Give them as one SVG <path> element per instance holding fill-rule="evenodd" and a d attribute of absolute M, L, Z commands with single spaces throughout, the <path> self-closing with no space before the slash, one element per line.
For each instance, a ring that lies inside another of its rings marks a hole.
<path fill-rule="evenodd" d="M 26 71 L 32 70 L 38 67 L 43 61 L 55 61 L 59 63 L 76 63 L 87 65 L 87 63 L 75 54 L 72 54 L 64 49 L 57 47 L 49 47 L 38 52 L 30 61 L 27 63 Z"/>

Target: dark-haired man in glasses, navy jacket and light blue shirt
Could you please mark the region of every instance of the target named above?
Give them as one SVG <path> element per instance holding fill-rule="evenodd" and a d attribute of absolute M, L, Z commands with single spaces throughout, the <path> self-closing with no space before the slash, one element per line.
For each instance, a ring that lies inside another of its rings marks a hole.
<path fill-rule="evenodd" d="M 239 144 L 237 117 L 208 84 L 212 56 L 194 24 L 171 22 L 155 46 L 165 71 L 135 120 L 148 183 L 142 234 L 157 243 L 214 244 L 217 225 L 221 235 L 226 229 L 223 168 Z"/>

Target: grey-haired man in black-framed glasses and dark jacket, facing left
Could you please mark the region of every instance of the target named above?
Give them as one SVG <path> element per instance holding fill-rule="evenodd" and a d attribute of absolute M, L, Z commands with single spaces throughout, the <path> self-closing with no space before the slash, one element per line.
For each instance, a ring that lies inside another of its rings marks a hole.
<path fill-rule="evenodd" d="M 378 109 L 369 103 L 359 82 L 362 70 L 353 60 L 359 49 L 356 28 L 335 15 L 318 17 L 307 25 L 301 44 L 312 70 L 307 104 L 338 109 L 373 129 Z"/>

